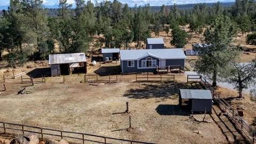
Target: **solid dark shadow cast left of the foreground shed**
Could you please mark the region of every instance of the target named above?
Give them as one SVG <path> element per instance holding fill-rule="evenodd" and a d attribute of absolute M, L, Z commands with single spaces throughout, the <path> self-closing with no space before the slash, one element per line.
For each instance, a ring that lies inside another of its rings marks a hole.
<path fill-rule="evenodd" d="M 156 108 L 156 112 L 159 115 L 178 115 L 178 116 L 188 116 L 189 111 L 187 108 L 180 108 L 179 105 L 159 105 Z"/>

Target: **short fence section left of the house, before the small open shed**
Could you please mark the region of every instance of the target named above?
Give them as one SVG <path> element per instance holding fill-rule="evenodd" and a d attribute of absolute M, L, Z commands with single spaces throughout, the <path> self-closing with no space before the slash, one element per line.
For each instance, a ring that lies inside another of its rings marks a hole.
<path fill-rule="evenodd" d="M 117 75 L 111 76 L 108 75 L 108 78 L 101 77 L 99 78 L 98 75 L 84 75 L 84 81 L 81 83 L 117 83 Z"/>

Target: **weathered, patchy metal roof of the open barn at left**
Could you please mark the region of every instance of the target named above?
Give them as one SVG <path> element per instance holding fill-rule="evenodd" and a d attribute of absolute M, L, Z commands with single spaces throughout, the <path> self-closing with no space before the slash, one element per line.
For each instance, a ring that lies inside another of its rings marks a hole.
<path fill-rule="evenodd" d="M 50 54 L 49 65 L 86 62 L 85 53 Z"/>

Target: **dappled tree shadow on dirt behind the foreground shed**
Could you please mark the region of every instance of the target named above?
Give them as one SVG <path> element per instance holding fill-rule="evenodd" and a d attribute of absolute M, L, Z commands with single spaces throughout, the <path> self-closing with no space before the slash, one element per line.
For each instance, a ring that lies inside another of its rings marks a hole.
<path fill-rule="evenodd" d="M 124 97 L 133 99 L 178 97 L 179 89 L 203 89 L 196 83 L 141 83 L 135 89 L 127 90 Z"/>

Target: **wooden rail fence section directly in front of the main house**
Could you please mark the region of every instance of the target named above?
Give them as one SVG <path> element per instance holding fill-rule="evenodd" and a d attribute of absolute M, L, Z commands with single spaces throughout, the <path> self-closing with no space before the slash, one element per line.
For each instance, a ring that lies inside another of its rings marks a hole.
<path fill-rule="evenodd" d="M 136 74 L 136 82 L 175 82 L 174 75 Z"/>

